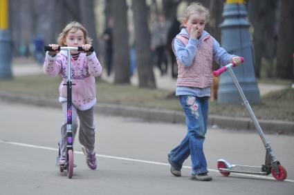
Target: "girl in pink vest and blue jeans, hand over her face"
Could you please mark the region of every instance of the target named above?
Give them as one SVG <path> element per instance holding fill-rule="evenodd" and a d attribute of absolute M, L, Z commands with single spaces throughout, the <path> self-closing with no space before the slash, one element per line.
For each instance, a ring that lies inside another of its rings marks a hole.
<path fill-rule="evenodd" d="M 220 65 L 241 63 L 240 57 L 228 54 L 204 30 L 209 15 L 208 9 L 200 3 L 188 6 L 183 18 L 184 28 L 172 43 L 178 63 L 176 96 L 185 112 L 187 135 L 167 156 L 172 174 L 181 176 L 183 162 L 191 155 L 192 179 L 197 181 L 212 180 L 203 152 L 212 85 L 212 60 Z"/>

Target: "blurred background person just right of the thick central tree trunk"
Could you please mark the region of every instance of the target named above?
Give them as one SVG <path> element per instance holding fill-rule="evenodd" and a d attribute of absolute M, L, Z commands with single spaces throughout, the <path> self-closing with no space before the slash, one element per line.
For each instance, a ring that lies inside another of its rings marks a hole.
<path fill-rule="evenodd" d="M 165 16 L 163 13 L 158 13 L 157 21 L 154 23 L 151 32 L 151 51 L 156 52 L 156 65 L 160 70 L 161 76 L 167 73 L 167 31 L 169 29 L 169 23 L 165 21 Z M 162 64 L 165 65 L 163 68 Z"/>

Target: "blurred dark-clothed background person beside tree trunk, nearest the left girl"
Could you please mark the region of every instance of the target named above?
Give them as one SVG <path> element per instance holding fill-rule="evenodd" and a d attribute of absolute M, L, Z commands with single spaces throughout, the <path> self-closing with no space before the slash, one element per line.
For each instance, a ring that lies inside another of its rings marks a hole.
<path fill-rule="evenodd" d="M 112 57 L 113 57 L 113 18 L 107 21 L 107 28 L 104 30 L 102 38 L 105 41 L 105 61 L 107 64 L 107 76 L 111 74 Z"/>

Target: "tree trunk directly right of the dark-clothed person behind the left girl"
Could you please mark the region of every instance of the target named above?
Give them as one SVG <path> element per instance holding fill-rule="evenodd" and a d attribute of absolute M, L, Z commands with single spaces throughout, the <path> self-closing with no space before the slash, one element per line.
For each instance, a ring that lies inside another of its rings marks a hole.
<path fill-rule="evenodd" d="M 113 11 L 114 83 L 129 83 L 129 32 L 126 0 L 111 1 Z"/>

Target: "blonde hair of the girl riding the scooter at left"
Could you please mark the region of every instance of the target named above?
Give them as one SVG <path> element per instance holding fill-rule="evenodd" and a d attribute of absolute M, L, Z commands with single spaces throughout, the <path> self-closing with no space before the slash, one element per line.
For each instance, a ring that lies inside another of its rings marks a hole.
<path fill-rule="evenodd" d="M 71 23 L 68 23 L 68 25 L 66 25 L 64 30 L 62 30 L 62 33 L 59 34 L 58 39 L 57 39 L 58 45 L 65 46 L 64 41 L 66 39 L 66 36 L 67 36 L 68 32 L 72 29 L 75 30 L 75 32 L 77 30 L 82 30 L 82 32 L 84 34 L 85 44 L 90 44 L 90 45 L 92 44 L 93 39 L 88 37 L 88 33 L 86 32 L 86 28 L 84 28 L 84 26 L 82 24 L 78 23 L 77 21 L 72 21 Z"/>

